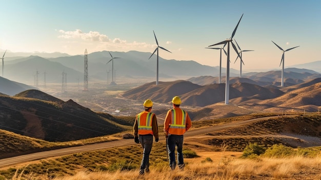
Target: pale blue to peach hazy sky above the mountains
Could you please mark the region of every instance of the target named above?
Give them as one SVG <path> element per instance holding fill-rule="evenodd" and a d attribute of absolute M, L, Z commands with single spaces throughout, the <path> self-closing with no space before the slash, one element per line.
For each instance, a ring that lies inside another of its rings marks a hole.
<path fill-rule="evenodd" d="M 165 59 L 218 66 L 219 50 L 205 49 L 230 38 L 244 52 L 243 71 L 279 69 L 321 60 L 321 1 L 142 1 L 0 0 L 0 55 L 12 52 L 153 52 Z M 222 47 L 222 46 L 216 46 Z M 231 49 L 232 50 L 232 49 Z M 9 56 L 9 55 L 8 55 Z M 156 56 L 154 57 L 156 58 Z M 231 52 L 231 68 L 239 69 Z M 90 61 L 90 59 L 89 59 Z M 226 67 L 226 56 L 223 56 Z"/>

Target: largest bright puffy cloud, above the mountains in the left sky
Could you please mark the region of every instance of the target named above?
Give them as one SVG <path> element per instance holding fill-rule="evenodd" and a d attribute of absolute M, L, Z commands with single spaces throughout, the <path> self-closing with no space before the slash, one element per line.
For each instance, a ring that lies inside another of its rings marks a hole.
<path fill-rule="evenodd" d="M 65 39 L 83 39 L 85 41 L 92 41 L 92 42 L 110 42 L 111 40 L 109 37 L 105 34 L 100 34 L 97 31 L 89 31 L 88 33 L 84 33 L 80 29 L 76 29 L 75 31 L 64 31 L 59 30 L 59 33 L 62 35 L 59 35 L 59 38 L 65 38 Z"/>

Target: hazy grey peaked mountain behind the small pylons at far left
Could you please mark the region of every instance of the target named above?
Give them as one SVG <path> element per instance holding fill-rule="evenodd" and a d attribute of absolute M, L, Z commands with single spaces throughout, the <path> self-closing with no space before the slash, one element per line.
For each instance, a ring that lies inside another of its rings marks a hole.
<path fill-rule="evenodd" d="M 77 82 L 79 77 L 84 76 L 82 72 L 39 56 L 29 56 L 18 60 L 18 63 L 7 65 L 5 68 L 5 76 L 12 81 L 34 84 L 37 75 L 38 85 L 41 86 L 44 84 L 45 75 L 46 83 L 62 83 L 63 72 L 67 73 L 67 82 Z"/>

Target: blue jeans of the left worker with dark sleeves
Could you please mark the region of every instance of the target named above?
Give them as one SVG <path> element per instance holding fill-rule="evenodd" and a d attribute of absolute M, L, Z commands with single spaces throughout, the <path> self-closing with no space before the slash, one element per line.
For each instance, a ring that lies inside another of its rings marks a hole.
<path fill-rule="evenodd" d="M 141 163 L 141 169 L 139 174 L 144 174 L 144 172 L 149 172 L 149 154 L 152 150 L 153 136 L 152 135 L 139 135 L 139 143 L 143 147 L 143 159 Z"/>

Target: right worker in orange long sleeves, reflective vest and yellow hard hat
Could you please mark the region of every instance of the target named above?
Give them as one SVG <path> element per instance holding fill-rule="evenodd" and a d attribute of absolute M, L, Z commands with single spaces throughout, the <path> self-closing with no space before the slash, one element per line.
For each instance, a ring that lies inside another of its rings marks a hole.
<path fill-rule="evenodd" d="M 164 132 L 169 152 L 169 166 L 172 170 L 176 167 L 175 146 L 177 146 L 178 167 L 183 170 L 185 166 L 182 152 L 184 133 L 192 126 L 192 121 L 188 113 L 179 108 L 182 102 L 178 96 L 173 97 L 172 103 L 173 109 L 167 112 L 164 122 Z"/>

